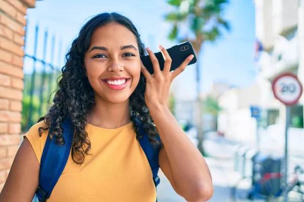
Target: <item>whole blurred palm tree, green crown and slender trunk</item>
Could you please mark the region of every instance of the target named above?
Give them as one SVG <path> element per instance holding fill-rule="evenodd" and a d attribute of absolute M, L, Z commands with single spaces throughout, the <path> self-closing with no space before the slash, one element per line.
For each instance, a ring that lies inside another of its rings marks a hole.
<path fill-rule="evenodd" d="M 224 6 L 229 0 L 167 0 L 167 3 L 174 7 L 174 11 L 165 16 L 165 20 L 172 24 L 169 33 L 170 40 L 189 41 L 192 43 L 196 55 L 199 57 L 202 44 L 205 41 L 215 41 L 221 36 L 221 32 L 230 30 L 230 24 L 222 18 Z M 185 28 L 187 32 L 180 34 Z M 223 28 L 223 29 L 222 29 Z M 196 65 L 197 74 L 197 103 L 199 110 L 198 117 L 198 138 L 199 149 L 204 154 L 203 124 L 202 124 L 202 97 L 200 95 L 200 65 Z"/>

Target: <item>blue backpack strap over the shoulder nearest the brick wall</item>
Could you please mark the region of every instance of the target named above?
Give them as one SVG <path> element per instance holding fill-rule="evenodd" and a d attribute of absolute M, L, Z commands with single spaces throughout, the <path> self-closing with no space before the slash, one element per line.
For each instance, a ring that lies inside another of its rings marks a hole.
<path fill-rule="evenodd" d="M 36 196 L 39 201 L 44 202 L 50 197 L 70 154 L 74 128 L 67 120 L 62 123 L 62 128 L 65 143 L 58 145 L 56 144 L 55 137 L 53 137 L 52 140 L 48 137 L 43 149 L 39 173 L 39 187 L 36 191 Z"/>

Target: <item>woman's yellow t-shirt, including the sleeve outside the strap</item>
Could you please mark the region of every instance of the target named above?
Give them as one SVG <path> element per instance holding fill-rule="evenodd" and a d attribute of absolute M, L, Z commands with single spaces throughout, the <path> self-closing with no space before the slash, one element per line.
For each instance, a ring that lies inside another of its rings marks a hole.
<path fill-rule="evenodd" d="M 39 136 L 42 121 L 24 135 L 41 161 L 48 131 Z M 42 130 L 43 131 L 43 130 Z M 142 150 L 133 124 L 104 129 L 88 124 L 90 156 L 75 164 L 71 154 L 48 202 L 103 201 L 155 202 L 156 188 L 148 160 Z"/>

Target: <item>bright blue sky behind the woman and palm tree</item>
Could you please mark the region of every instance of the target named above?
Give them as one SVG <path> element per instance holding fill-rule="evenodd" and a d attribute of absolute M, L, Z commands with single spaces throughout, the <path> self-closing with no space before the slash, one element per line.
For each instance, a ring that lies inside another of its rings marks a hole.
<path fill-rule="evenodd" d="M 79 30 L 92 16 L 102 12 L 118 12 L 130 18 L 138 29 L 145 46 L 159 52 L 158 44 L 169 48 L 177 41 L 168 40 L 171 25 L 164 22 L 166 13 L 172 10 L 165 0 L 154 1 L 37 1 L 35 9 L 28 9 L 25 53 L 33 55 L 35 25 L 39 25 L 37 58 L 43 58 L 44 32 L 48 30 L 46 61 L 58 67 L 64 65 L 64 55 Z M 230 0 L 224 19 L 231 24 L 231 31 L 224 32 L 215 42 L 205 42 L 199 56 L 201 89 L 210 91 L 213 82 L 223 81 L 233 86 L 246 87 L 255 82 L 256 66 L 253 61 L 255 40 L 254 4 L 251 0 Z M 55 54 L 51 58 L 51 37 L 55 36 Z M 62 46 L 60 46 L 62 41 Z M 29 73 L 33 63 L 24 60 L 24 72 Z M 36 64 L 39 71 L 41 65 Z M 196 93 L 196 66 L 186 68 L 174 81 L 177 99 L 192 100 Z"/>

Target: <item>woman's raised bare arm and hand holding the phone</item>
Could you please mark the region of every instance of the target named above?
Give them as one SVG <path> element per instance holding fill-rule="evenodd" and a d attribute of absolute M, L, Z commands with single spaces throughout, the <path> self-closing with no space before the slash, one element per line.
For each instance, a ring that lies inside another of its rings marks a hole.
<path fill-rule="evenodd" d="M 194 56 L 188 56 L 175 71 L 170 72 L 171 58 L 165 48 L 160 46 L 160 49 L 165 60 L 164 70 L 160 70 L 156 56 L 149 49 L 154 74 L 151 75 L 143 65 L 141 68 L 146 78 L 145 102 L 164 144 L 159 154 L 159 165 L 179 195 L 187 201 L 207 201 L 213 194 L 208 165 L 167 107 L 172 80 Z"/>

